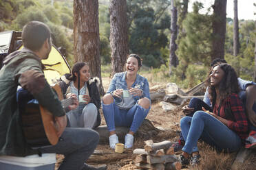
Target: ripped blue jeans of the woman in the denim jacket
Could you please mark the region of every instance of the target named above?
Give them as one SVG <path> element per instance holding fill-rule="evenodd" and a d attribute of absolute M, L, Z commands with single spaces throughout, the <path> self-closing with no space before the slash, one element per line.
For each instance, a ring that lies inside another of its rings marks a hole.
<path fill-rule="evenodd" d="M 115 103 L 103 104 L 103 114 L 109 132 L 116 130 L 116 126 L 130 127 L 131 132 L 136 132 L 149 112 L 137 103 L 129 110 L 122 110 Z"/>

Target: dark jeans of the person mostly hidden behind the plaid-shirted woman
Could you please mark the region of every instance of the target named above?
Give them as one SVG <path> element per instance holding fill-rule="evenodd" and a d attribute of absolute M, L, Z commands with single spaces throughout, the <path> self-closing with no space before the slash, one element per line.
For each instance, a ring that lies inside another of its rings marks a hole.
<path fill-rule="evenodd" d="M 191 114 L 186 115 L 187 117 L 193 117 L 194 113 L 196 111 L 202 110 L 202 107 L 204 107 L 206 110 L 209 110 L 210 112 L 212 112 L 212 108 L 204 103 L 204 101 L 202 101 L 201 99 L 198 98 L 192 98 L 189 101 L 189 108 L 194 108 L 193 112 L 191 112 Z M 183 136 L 182 136 L 182 132 L 180 132 L 180 140 L 185 141 Z"/>

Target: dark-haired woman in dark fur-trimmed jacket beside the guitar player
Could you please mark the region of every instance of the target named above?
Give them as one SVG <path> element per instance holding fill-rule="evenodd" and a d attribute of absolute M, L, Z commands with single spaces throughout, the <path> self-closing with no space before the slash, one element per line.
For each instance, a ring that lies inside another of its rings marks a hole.
<path fill-rule="evenodd" d="M 98 92 L 99 80 L 90 78 L 89 63 L 76 62 L 72 68 L 72 75 L 61 77 L 61 90 L 65 97 L 81 95 L 79 106 L 67 112 L 70 127 L 94 128 L 100 125 L 100 94 Z M 79 89 L 79 90 L 78 90 Z"/>

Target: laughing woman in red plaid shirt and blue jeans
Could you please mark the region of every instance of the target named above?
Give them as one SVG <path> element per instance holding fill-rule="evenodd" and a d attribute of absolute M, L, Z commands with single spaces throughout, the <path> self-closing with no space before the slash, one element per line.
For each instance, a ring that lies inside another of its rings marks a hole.
<path fill-rule="evenodd" d="M 180 120 L 182 136 L 186 141 L 180 155 L 182 165 L 189 165 L 189 162 L 191 165 L 199 164 L 199 138 L 217 150 L 232 152 L 242 147 L 248 136 L 248 122 L 237 93 L 237 75 L 232 66 L 226 63 L 213 66 L 209 75 L 213 112 L 202 108 L 204 111 L 197 111 L 193 117 Z"/>

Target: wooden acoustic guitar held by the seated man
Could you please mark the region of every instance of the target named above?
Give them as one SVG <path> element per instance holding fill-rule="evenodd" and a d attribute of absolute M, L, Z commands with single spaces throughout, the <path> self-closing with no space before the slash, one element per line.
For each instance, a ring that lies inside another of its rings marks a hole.
<path fill-rule="evenodd" d="M 63 108 L 73 104 L 74 99 L 64 99 L 61 87 L 54 84 L 58 99 Z M 30 147 L 56 145 L 58 143 L 58 125 L 52 113 L 43 108 L 27 90 L 18 90 L 18 104 L 21 113 L 21 125 L 26 142 Z"/>

